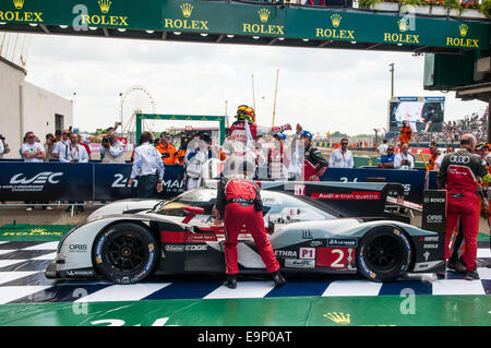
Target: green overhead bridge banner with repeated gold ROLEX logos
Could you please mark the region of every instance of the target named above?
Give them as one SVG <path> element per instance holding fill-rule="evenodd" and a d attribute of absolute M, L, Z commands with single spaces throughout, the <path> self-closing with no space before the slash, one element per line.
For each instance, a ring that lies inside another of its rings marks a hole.
<path fill-rule="evenodd" d="M 488 22 L 177 0 L 0 0 L 0 23 L 488 49 Z M 7 28 L 8 26 L 5 26 Z M 2 26 L 0 25 L 0 29 Z"/>

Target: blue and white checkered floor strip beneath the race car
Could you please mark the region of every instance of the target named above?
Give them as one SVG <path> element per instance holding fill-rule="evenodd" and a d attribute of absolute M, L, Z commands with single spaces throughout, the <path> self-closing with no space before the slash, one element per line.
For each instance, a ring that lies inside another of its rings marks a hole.
<path fill-rule="evenodd" d="M 108 281 L 59 281 L 47 279 L 45 269 L 56 257 L 58 242 L 0 242 L 0 304 L 35 302 L 100 302 L 165 299 L 244 299 L 275 297 L 356 297 L 398 296 L 410 289 L 415 295 L 491 295 L 491 259 L 489 242 L 478 243 L 478 273 L 481 279 L 465 280 L 463 274 L 446 272 L 445 278 L 434 274 L 409 274 L 394 283 L 373 283 L 361 277 L 323 275 L 301 279 L 299 276 L 275 289 L 273 280 L 239 278 L 237 289 L 221 286 L 216 277 L 196 281 L 169 283 L 156 277 L 141 284 L 113 285 Z M 199 276 L 203 279 L 203 276 Z M 166 281 L 167 279 L 167 281 Z M 190 281 L 189 279 L 194 279 Z M 242 281 L 240 281 L 242 280 Z"/>

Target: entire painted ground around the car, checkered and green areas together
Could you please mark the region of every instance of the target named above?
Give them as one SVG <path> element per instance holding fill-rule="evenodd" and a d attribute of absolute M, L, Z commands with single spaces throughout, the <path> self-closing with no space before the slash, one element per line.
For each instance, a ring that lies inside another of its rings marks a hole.
<path fill-rule="evenodd" d="M 358 276 L 154 276 L 143 284 L 56 281 L 44 276 L 70 226 L 0 228 L 1 326 L 490 326 L 489 236 L 480 235 L 480 280 L 447 272 L 391 284 Z"/>

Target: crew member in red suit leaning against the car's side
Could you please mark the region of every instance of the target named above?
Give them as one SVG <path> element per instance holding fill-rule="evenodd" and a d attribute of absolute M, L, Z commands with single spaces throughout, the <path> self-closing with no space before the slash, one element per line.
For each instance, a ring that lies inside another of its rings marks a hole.
<path fill-rule="evenodd" d="M 260 188 L 250 179 L 254 165 L 240 163 L 243 175 L 226 176 L 218 185 L 215 225 L 225 224 L 225 260 L 227 264 L 227 280 L 225 286 L 230 289 L 237 287 L 237 243 L 240 232 L 250 232 L 254 239 L 258 251 L 266 265 L 266 272 L 273 276 L 275 287 L 285 284 L 285 278 L 279 273 L 279 264 L 276 260 L 273 247 L 267 239 L 264 228 L 263 202 Z"/>

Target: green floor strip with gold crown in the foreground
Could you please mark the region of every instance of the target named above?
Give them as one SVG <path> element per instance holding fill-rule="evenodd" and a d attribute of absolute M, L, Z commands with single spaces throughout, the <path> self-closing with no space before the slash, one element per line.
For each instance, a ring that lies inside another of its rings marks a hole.
<path fill-rule="evenodd" d="M 0 325 L 178 325 L 202 326 L 203 334 L 206 326 L 489 326 L 490 305 L 490 296 L 410 293 L 346 298 L 79 301 L 0 305 Z"/>

